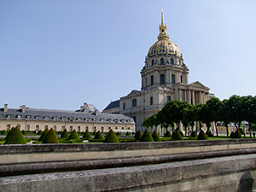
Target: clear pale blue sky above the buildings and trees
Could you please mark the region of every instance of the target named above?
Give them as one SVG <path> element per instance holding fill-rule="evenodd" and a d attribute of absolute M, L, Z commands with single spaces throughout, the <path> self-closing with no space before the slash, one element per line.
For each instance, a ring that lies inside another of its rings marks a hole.
<path fill-rule="evenodd" d="M 0 108 L 102 111 L 141 90 L 161 9 L 189 83 L 221 100 L 256 95 L 254 0 L 0 0 Z"/>

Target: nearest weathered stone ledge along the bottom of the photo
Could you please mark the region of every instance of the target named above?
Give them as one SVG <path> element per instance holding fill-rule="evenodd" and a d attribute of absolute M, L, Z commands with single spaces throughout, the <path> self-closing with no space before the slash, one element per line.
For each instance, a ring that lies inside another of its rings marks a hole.
<path fill-rule="evenodd" d="M 0 177 L 0 191 L 252 191 L 256 154 Z"/>

